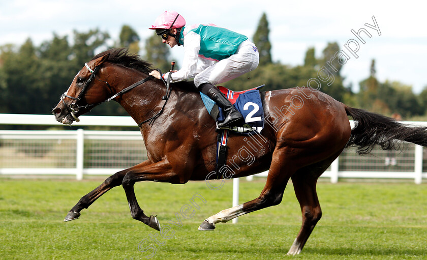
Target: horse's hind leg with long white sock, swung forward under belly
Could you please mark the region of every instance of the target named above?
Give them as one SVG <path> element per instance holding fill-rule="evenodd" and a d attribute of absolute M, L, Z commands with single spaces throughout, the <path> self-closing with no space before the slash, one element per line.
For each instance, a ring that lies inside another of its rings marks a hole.
<path fill-rule="evenodd" d="M 271 164 L 268 171 L 267 182 L 259 197 L 210 216 L 199 226 L 199 230 L 213 230 L 215 224 L 218 222 L 225 223 L 238 216 L 280 204 L 286 184 L 293 174 L 293 171 L 288 168 L 285 172 L 281 169 L 282 162 L 284 163 L 284 161 L 282 160 L 279 162 L 281 163 Z"/>

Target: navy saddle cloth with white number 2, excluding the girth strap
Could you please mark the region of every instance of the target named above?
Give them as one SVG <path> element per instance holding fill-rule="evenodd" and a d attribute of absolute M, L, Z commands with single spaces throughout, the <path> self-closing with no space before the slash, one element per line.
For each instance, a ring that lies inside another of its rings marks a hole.
<path fill-rule="evenodd" d="M 263 86 L 264 85 L 260 85 L 257 88 L 239 92 L 231 91 L 224 86 L 217 86 L 245 119 L 245 124 L 241 127 L 217 128 L 217 130 L 232 130 L 241 134 L 260 133 L 264 128 L 264 109 L 262 107 L 259 89 Z M 201 92 L 200 96 L 210 116 L 216 120 L 217 123 L 223 121 L 224 115 L 221 107 Z"/>

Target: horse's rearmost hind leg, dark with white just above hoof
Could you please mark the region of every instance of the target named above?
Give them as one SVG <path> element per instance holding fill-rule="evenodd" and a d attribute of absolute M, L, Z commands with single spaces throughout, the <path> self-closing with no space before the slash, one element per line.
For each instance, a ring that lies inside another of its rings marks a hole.
<path fill-rule="evenodd" d="M 305 172 L 304 172 L 305 173 Z M 319 199 L 316 192 L 317 176 L 311 174 L 299 174 L 292 176 L 296 198 L 299 201 L 302 212 L 302 226 L 294 240 L 288 255 L 299 254 L 302 247 L 309 239 L 314 227 L 322 217 Z"/>

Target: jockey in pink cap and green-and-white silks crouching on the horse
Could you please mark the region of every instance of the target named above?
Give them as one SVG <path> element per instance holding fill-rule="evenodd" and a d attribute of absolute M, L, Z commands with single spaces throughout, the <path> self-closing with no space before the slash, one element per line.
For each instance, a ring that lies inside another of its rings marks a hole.
<path fill-rule="evenodd" d="M 254 70 L 259 63 L 258 49 L 248 37 L 215 24 L 185 25 L 184 17 L 166 11 L 149 28 L 156 30 L 162 42 L 171 48 L 185 48 L 180 70 L 163 75 L 155 70 L 150 75 L 160 79 L 172 73 L 172 82 L 194 78 L 197 89 L 223 109 L 225 120 L 218 124 L 219 128 L 242 125 L 242 115 L 215 85 Z"/>

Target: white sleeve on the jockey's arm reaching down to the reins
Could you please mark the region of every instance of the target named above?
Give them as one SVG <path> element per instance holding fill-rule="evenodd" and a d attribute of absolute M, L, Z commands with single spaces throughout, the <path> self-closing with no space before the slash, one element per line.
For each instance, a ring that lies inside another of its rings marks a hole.
<path fill-rule="evenodd" d="M 193 78 L 197 74 L 197 62 L 200 50 L 200 35 L 189 32 L 184 38 L 184 59 L 182 60 L 181 69 L 173 72 L 171 81 L 181 81 L 188 78 Z M 169 72 L 165 73 L 165 79 L 169 76 Z"/>

